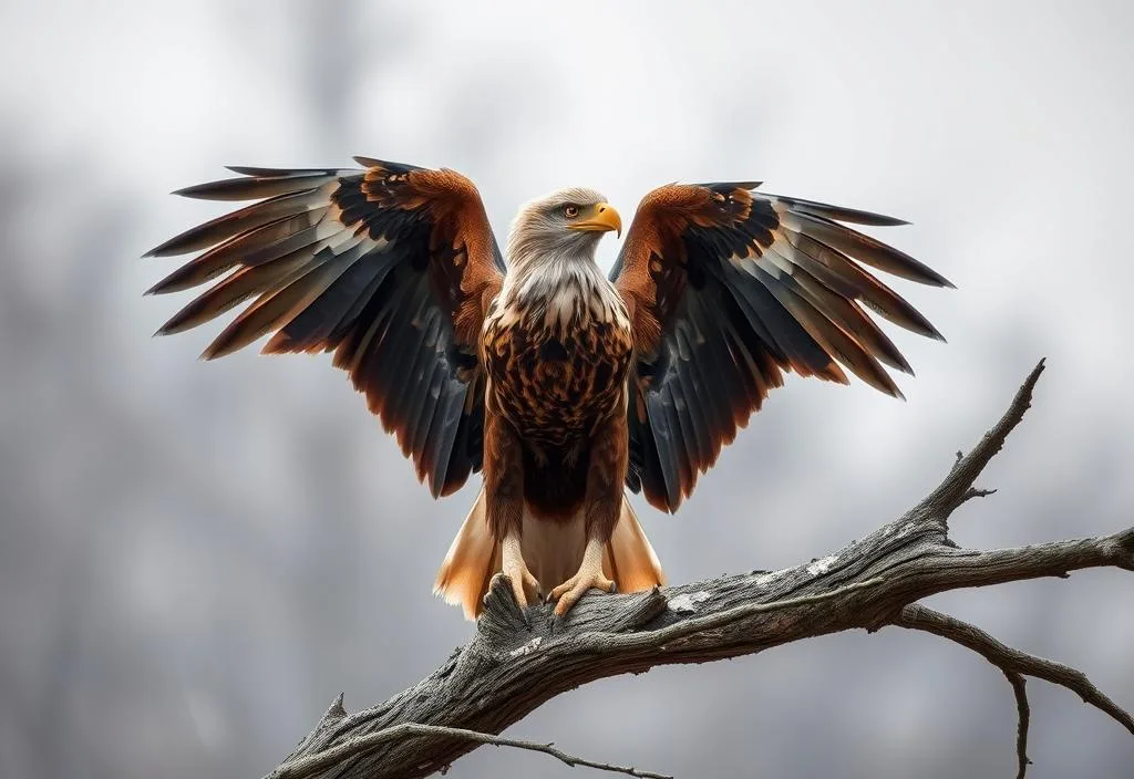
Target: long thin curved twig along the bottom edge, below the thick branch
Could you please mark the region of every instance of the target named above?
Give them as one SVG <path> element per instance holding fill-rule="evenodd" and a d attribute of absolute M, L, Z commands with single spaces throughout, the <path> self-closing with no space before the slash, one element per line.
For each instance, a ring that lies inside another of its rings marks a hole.
<path fill-rule="evenodd" d="M 328 768 L 329 765 L 335 765 L 336 763 L 340 763 L 349 757 L 363 755 L 380 744 L 398 741 L 400 738 L 405 738 L 406 736 L 445 736 L 450 738 L 460 738 L 467 742 L 475 742 L 477 744 L 510 746 L 517 750 L 527 750 L 530 752 L 542 752 L 543 754 L 551 755 L 572 768 L 583 765 L 585 768 L 598 769 L 599 771 L 610 771 L 612 773 L 621 773 L 628 777 L 640 777 L 641 779 L 674 779 L 674 777 L 668 773 L 654 773 L 653 771 L 638 770 L 632 765 L 598 763 L 593 760 L 576 757 L 575 755 L 567 754 L 561 750 L 557 750 L 555 744 L 550 742 L 548 744 L 538 744 L 536 742 L 525 742 L 518 738 L 493 736 L 492 734 L 480 733 L 479 730 L 450 728 L 441 725 L 421 725 L 420 722 L 403 722 L 401 725 L 395 725 L 393 727 L 384 728 L 378 733 L 357 736 L 350 741 L 339 744 L 338 746 L 331 747 L 330 750 L 316 752 L 294 762 L 284 763 L 270 774 L 270 779 L 304 779 L 305 777 L 313 776 L 316 771 Z"/>

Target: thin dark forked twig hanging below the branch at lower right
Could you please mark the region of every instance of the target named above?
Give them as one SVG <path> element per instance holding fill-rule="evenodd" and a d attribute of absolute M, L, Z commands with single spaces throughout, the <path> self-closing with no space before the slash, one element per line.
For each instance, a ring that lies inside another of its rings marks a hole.
<path fill-rule="evenodd" d="M 1017 776 L 1021 778 L 1024 777 L 1031 762 L 1026 754 L 1031 710 L 1027 705 L 1027 694 L 1024 691 L 1024 676 L 1033 676 L 1066 687 L 1083 699 L 1084 703 L 1093 705 L 1134 734 L 1134 717 L 1131 717 L 1128 712 L 1095 687 L 1086 674 L 1081 670 L 1013 649 L 975 625 L 919 603 L 904 607 L 894 624 L 899 627 L 932 633 L 956 642 L 976 652 L 1004 671 L 1016 693 L 1016 709 L 1019 713 L 1016 753 L 1019 756 L 1019 773 Z"/>

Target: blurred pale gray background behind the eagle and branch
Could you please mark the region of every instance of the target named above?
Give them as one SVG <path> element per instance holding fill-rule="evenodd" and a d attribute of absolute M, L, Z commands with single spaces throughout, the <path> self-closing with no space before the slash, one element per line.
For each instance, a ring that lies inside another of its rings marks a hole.
<path fill-rule="evenodd" d="M 469 636 L 430 588 L 476 482 L 431 500 L 327 356 L 150 337 L 186 298 L 143 298 L 174 262 L 138 257 L 221 213 L 167 192 L 223 164 L 451 166 L 501 240 L 567 185 L 628 216 L 756 178 L 911 220 L 883 237 L 959 289 L 896 288 L 949 343 L 896 332 L 906 403 L 789 379 L 677 516 L 638 500 L 674 581 L 861 538 L 1042 356 L 955 539 L 1131 524 L 1128 3 L 8 0 L 0 29 L 2 777 L 260 777 L 340 691 L 384 700 Z M 1129 708 L 1132 596 L 1102 571 L 932 605 Z M 1029 690 L 1030 776 L 1131 776 L 1128 733 Z M 941 778 L 1014 776 L 1015 728 L 998 671 L 887 628 L 604 680 L 508 733 L 686 778 Z M 450 773 L 584 774 L 488 748 Z"/>

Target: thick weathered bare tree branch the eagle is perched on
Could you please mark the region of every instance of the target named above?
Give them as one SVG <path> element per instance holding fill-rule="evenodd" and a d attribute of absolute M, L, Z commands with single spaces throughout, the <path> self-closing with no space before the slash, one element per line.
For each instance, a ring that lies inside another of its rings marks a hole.
<path fill-rule="evenodd" d="M 957 641 L 1005 673 L 1019 713 L 1019 776 L 1029 762 L 1025 676 L 1074 690 L 1134 733 L 1129 714 L 1081 671 L 1014 650 L 972 625 L 916 605 L 948 590 L 1066 577 L 1082 568 L 1134 571 L 1134 528 L 988 551 L 958 548 L 948 537 L 954 511 L 987 493 L 973 483 L 1023 419 L 1042 370 L 1040 362 L 1004 417 L 967 455 L 958 456 L 923 500 L 866 538 L 811 563 L 648 592 L 590 593 L 562 620 L 552 619 L 550 606 L 522 613 L 507 581 L 497 576 L 472 641 L 384 703 L 347 714 L 337 701 L 271 776 L 424 777 L 481 743 L 497 743 L 491 734 L 595 679 L 753 654 L 806 637 L 854 628 L 873 632 L 886 625 Z M 476 736 L 456 737 L 452 729 Z"/>

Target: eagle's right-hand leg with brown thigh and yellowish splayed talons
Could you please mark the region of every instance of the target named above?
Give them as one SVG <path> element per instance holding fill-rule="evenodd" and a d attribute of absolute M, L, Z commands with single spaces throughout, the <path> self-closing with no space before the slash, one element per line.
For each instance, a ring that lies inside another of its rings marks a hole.
<path fill-rule="evenodd" d="M 591 439 L 591 464 L 586 471 L 583 504 L 586 549 L 578 573 L 551 591 L 550 600 L 558 601 L 556 615 L 560 617 L 592 588 L 615 591 L 615 583 L 602 573 L 602 555 L 621 514 L 628 459 L 626 413 L 625 406 L 619 404 L 613 417 L 600 425 Z"/>

